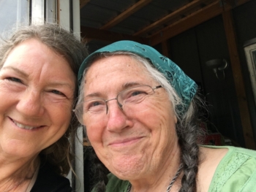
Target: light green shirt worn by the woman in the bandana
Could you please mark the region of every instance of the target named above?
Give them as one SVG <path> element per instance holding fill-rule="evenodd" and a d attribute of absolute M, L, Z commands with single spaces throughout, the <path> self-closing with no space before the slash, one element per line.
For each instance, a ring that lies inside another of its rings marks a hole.
<path fill-rule="evenodd" d="M 204 146 L 227 148 L 219 162 L 208 192 L 256 192 L 256 151 L 230 146 Z M 106 192 L 126 192 L 129 181 L 108 174 Z M 94 190 L 93 190 L 94 191 Z"/>

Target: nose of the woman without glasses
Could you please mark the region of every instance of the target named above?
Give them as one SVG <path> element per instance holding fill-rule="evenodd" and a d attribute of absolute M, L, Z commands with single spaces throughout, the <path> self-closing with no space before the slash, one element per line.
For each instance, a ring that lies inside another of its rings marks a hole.
<path fill-rule="evenodd" d="M 44 112 L 41 96 L 38 91 L 29 91 L 20 96 L 17 104 L 17 110 L 28 117 L 41 116 Z"/>

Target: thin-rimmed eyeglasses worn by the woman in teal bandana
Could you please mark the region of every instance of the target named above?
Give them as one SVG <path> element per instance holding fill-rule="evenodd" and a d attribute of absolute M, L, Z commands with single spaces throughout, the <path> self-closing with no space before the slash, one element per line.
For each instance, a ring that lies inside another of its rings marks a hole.
<path fill-rule="evenodd" d="M 104 117 L 103 115 L 108 114 L 108 101 L 115 100 L 117 101 L 118 107 L 121 110 L 126 111 L 128 108 L 133 110 L 140 110 L 138 104 L 144 101 L 144 99 L 154 94 L 154 90 L 157 88 L 162 88 L 162 85 L 158 85 L 152 88 L 149 85 L 140 85 L 133 88 L 127 88 L 124 91 L 121 91 L 117 94 L 114 99 L 90 99 L 88 101 L 83 101 L 80 104 L 77 104 L 75 107 L 75 115 L 77 116 L 79 122 L 83 123 L 83 115 L 89 115 L 89 118 L 100 119 Z"/>

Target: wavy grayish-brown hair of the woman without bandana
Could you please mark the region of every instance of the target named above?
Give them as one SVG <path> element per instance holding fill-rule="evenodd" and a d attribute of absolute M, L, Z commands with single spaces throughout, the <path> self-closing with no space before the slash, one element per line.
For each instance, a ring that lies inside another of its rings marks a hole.
<path fill-rule="evenodd" d="M 69 63 L 75 76 L 83 59 L 88 55 L 86 45 L 76 38 L 72 32 L 64 30 L 57 24 L 46 23 L 44 25 L 20 26 L 12 31 L 10 37 L 1 38 L 0 44 L 0 70 L 10 52 L 26 39 L 37 39 L 47 45 L 51 50 L 62 55 Z M 78 85 L 74 93 L 78 96 Z M 76 101 L 74 100 L 73 106 Z M 66 133 L 57 142 L 41 151 L 40 158 L 48 161 L 56 168 L 56 172 L 67 175 L 73 159 L 71 143 L 75 139 L 78 120 L 72 112 L 72 118 Z"/>

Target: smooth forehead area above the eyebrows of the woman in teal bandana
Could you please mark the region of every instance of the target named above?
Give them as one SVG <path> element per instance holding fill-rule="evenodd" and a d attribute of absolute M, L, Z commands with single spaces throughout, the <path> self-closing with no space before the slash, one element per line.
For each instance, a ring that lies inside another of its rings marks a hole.
<path fill-rule="evenodd" d="M 86 73 L 85 83 L 89 88 L 111 83 L 124 85 L 129 82 L 149 83 L 151 81 L 151 76 L 139 61 L 127 55 L 113 55 L 94 61 Z"/>

